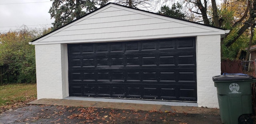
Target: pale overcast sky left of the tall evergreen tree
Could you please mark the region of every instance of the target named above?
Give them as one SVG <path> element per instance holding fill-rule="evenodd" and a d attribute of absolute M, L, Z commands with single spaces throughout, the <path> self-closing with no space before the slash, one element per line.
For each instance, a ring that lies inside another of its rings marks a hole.
<path fill-rule="evenodd" d="M 28 28 L 52 27 L 50 0 L 0 0 L 0 32 L 17 30 L 26 25 Z"/>

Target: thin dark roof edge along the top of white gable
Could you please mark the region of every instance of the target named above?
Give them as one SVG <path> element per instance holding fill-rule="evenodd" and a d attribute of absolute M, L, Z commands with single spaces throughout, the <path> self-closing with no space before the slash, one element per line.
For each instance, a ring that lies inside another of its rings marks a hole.
<path fill-rule="evenodd" d="M 54 32 L 54 31 L 59 30 L 60 28 L 63 28 L 63 27 L 65 27 L 65 26 L 67 26 L 67 25 L 69 25 L 69 24 L 71 24 L 71 23 L 73 23 L 73 22 L 76 22 L 77 20 L 79 20 L 79 19 L 81 19 L 81 18 L 84 18 L 85 16 L 88 16 L 89 14 L 92 14 L 93 12 L 96 12 L 97 10 L 100 10 L 101 8 L 104 8 L 105 6 L 108 6 L 109 4 L 115 4 L 115 5 L 118 5 L 118 6 L 130 8 L 130 9 L 134 9 L 134 10 L 139 10 L 139 11 L 147 12 L 147 13 L 150 13 L 150 14 L 155 14 L 155 15 L 159 15 L 159 16 L 165 16 L 165 15 L 162 15 L 162 14 L 157 14 L 157 13 L 154 13 L 154 12 L 149 12 L 149 11 L 140 10 L 140 9 L 136 9 L 136 8 L 132 8 L 132 7 L 123 6 L 123 5 L 120 5 L 120 4 L 116 4 L 116 3 L 109 2 L 108 4 L 106 4 L 106 5 L 104 5 L 104 6 L 101 6 L 100 8 L 97 8 L 97 9 L 93 10 L 92 12 L 89 12 L 88 14 L 85 14 L 84 16 L 81 16 L 80 18 L 77 18 L 76 20 L 73 20 L 73 21 L 71 21 L 71 22 L 65 24 L 64 26 L 61 26 L 61 27 L 59 27 L 59 28 L 57 28 L 57 29 L 55 29 L 55 30 L 53 30 L 53 31 L 50 31 L 49 33 L 46 33 L 45 35 L 42 35 L 41 37 L 38 37 L 38 38 L 32 40 L 31 42 L 34 42 L 34 41 L 36 41 L 36 40 L 38 40 L 38 39 L 40 39 L 40 38 L 42 38 L 42 37 L 44 37 L 44 36 L 46 36 L 46 35 L 48 35 L 48 34 Z M 220 30 L 226 30 L 226 29 L 224 29 L 224 28 L 218 28 L 218 27 L 215 27 L 215 26 L 210 26 L 210 25 L 206 25 L 206 24 L 201 24 L 201 23 L 198 23 L 198 22 L 192 22 L 192 21 L 189 21 L 189 20 L 181 19 L 181 18 L 175 18 L 175 17 L 170 17 L 170 16 L 165 16 L 165 17 L 173 18 L 173 19 L 181 20 L 181 21 L 185 21 L 185 22 L 190 22 L 190 23 L 194 23 L 194 24 L 199 24 L 199 25 L 207 26 L 207 27 L 211 27 L 211 28 L 217 28 L 217 29 L 220 29 Z"/>

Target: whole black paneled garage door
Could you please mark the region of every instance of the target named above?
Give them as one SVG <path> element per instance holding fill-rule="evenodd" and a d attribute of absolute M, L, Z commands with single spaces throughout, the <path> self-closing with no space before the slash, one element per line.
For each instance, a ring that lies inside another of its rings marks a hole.
<path fill-rule="evenodd" d="M 68 44 L 69 95 L 196 101 L 195 37 Z"/>

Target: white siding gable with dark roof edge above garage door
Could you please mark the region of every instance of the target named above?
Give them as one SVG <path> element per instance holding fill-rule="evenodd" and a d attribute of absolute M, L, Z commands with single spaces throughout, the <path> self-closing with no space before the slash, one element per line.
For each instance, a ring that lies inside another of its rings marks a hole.
<path fill-rule="evenodd" d="M 128 41 L 225 33 L 228 30 L 108 3 L 34 39 L 30 44 Z"/>

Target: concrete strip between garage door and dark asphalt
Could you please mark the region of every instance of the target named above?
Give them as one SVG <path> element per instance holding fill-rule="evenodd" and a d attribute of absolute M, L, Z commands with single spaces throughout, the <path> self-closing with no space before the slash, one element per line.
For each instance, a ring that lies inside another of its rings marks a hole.
<path fill-rule="evenodd" d="M 116 99 L 114 99 L 114 100 L 116 100 Z M 144 102 L 145 101 L 147 102 L 147 100 L 144 100 Z M 138 104 L 138 103 L 127 103 L 127 102 L 102 102 L 102 101 L 92 101 L 92 100 L 88 100 L 88 99 L 86 100 L 86 98 L 79 98 L 79 97 L 78 98 L 77 97 L 68 97 L 65 99 L 42 98 L 42 99 L 39 99 L 39 100 L 36 100 L 33 102 L 29 102 L 28 104 L 81 106 L 81 107 L 96 107 L 96 108 L 145 110 L 145 111 L 161 110 L 163 112 L 166 112 L 166 111 L 178 112 L 178 113 L 186 112 L 186 113 L 192 113 L 192 114 L 200 114 L 200 113 L 204 113 L 207 111 L 204 108 L 200 108 L 200 111 L 194 111 L 194 109 L 198 109 L 198 107 L 192 107 L 192 106 L 169 106 L 169 105 L 162 105 L 162 104 Z"/>

